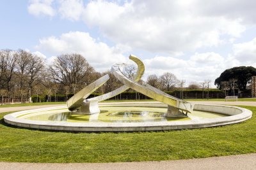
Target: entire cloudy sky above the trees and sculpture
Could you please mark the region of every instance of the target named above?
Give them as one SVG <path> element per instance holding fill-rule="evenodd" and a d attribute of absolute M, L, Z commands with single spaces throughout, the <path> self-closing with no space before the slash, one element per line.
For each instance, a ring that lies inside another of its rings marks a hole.
<path fill-rule="evenodd" d="M 19 48 L 48 61 L 80 53 L 97 71 L 145 63 L 145 76 L 214 80 L 234 66 L 256 67 L 256 1 L 5 0 L 0 49 Z M 213 86 L 213 85 L 212 85 Z"/>

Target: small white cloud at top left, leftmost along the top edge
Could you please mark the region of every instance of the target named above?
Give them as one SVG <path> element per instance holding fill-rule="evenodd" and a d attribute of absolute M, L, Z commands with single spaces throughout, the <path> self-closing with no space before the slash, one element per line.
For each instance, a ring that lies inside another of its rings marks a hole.
<path fill-rule="evenodd" d="M 29 3 L 28 11 L 35 16 L 48 15 L 53 17 L 55 15 L 55 11 L 51 6 L 52 1 L 53 0 L 32 0 Z"/>

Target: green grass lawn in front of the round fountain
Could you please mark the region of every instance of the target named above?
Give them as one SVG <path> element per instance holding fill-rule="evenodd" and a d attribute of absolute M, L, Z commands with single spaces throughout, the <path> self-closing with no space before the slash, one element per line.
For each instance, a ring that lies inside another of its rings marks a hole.
<path fill-rule="evenodd" d="M 256 107 L 240 124 L 164 132 L 72 133 L 17 129 L 0 113 L 0 161 L 130 162 L 256 152 Z"/>

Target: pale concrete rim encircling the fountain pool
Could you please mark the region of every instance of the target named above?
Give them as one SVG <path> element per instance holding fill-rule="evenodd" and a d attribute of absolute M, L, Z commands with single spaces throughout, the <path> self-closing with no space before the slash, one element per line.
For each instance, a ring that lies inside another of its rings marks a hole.
<path fill-rule="evenodd" d="M 109 106 L 108 103 L 105 103 Z M 135 103 L 118 103 L 115 106 L 134 106 Z M 140 106 L 156 105 L 156 107 L 166 107 L 159 103 L 137 103 Z M 136 104 L 136 105 L 137 105 Z M 105 106 L 104 103 L 100 104 Z M 112 106 L 112 105 L 111 105 Z M 175 129 L 195 129 L 203 127 L 214 127 L 220 125 L 236 124 L 252 117 L 252 111 L 237 106 L 225 106 L 218 104 L 195 104 L 195 110 L 212 111 L 220 110 L 216 113 L 229 115 L 228 117 L 204 118 L 195 120 L 172 121 L 172 122 L 56 122 L 56 121 L 38 121 L 17 118 L 20 115 L 35 111 L 46 111 L 64 109 L 67 106 L 55 106 L 51 108 L 40 108 L 35 110 L 24 110 L 10 113 L 4 116 L 4 122 L 17 127 L 26 127 L 31 129 L 45 129 L 51 131 L 78 131 L 78 132 L 128 132 L 128 131 L 166 131 Z"/>

